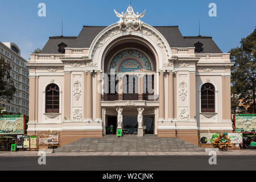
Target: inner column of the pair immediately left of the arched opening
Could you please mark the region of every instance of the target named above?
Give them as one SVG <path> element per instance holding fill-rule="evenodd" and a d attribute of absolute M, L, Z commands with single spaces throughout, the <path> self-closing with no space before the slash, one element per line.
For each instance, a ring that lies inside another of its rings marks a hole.
<path fill-rule="evenodd" d="M 96 121 L 102 121 L 101 117 L 101 71 L 96 71 Z"/>

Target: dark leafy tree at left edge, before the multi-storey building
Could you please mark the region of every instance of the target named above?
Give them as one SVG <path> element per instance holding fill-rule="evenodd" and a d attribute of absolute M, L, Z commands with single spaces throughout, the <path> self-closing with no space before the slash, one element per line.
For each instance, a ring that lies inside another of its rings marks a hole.
<path fill-rule="evenodd" d="M 0 101 L 10 101 L 16 92 L 13 78 L 10 74 L 11 65 L 3 57 L 0 58 Z"/>

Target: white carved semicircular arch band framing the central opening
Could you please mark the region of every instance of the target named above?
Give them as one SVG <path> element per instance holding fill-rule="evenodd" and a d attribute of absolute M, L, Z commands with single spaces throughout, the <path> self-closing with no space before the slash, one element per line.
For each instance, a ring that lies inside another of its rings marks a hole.
<path fill-rule="evenodd" d="M 117 23 L 106 27 L 93 40 L 89 48 L 88 59 L 97 64 L 98 69 L 105 70 L 104 63 L 106 52 L 118 41 L 134 40 L 137 43 L 143 43 L 147 48 L 154 52 L 157 69 L 163 67 L 163 63 L 171 59 L 171 48 L 162 34 L 154 27 L 144 23 L 140 31 L 121 31 Z"/>

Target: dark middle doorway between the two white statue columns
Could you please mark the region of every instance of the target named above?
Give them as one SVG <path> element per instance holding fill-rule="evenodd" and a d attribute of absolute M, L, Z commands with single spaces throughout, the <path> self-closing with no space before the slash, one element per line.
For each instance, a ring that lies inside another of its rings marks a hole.
<path fill-rule="evenodd" d="M 138 133 L 137 117 L 123 117 L 123 133 L 130 135 Z"/>

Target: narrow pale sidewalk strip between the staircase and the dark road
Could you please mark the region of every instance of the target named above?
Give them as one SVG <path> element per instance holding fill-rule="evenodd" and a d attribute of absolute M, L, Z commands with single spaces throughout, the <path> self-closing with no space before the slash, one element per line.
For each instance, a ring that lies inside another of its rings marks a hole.
<path fill-rule="evenodd" d="M 47 156 L 166 156 L 166 155 L 208 155 L 206 152 L 55 152 L 46 154 Z M 228 150 L 226 152 L 218 152 L 217 155 L 256 155 L 256 150 Z M 38 151 L 0 151 L 2 156 L 38 156 Z"/>

